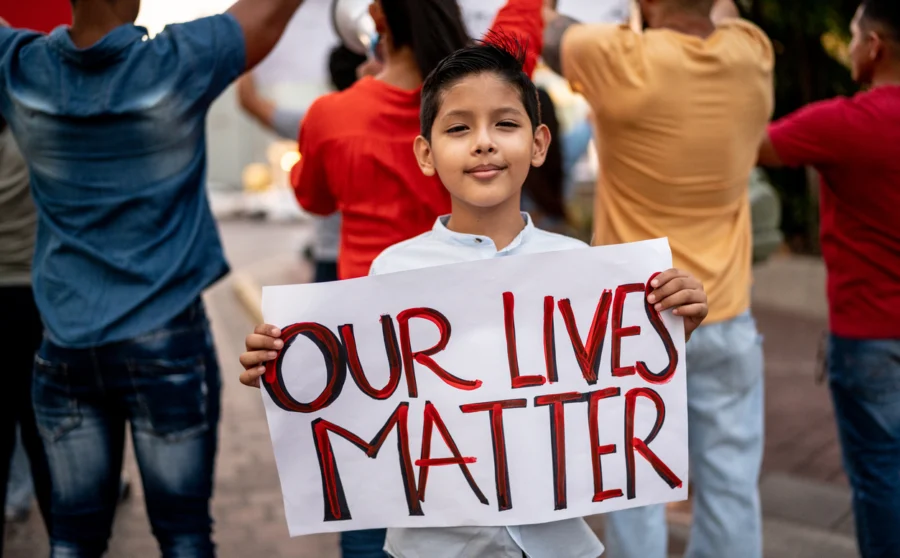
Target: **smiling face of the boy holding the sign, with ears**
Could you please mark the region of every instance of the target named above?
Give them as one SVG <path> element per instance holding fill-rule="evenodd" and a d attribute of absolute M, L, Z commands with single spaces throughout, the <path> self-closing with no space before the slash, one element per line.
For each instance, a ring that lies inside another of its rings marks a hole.
<path fill-rule="evenodd" d="M 487 209 L 519 196 L 549 145 L 546 126 L 532 133 L 518 90 L 485 73 L 444 92 L 431 142 L 419 136 L 415 149 L 423 173 L 437 173 L 457 200 Z"/>

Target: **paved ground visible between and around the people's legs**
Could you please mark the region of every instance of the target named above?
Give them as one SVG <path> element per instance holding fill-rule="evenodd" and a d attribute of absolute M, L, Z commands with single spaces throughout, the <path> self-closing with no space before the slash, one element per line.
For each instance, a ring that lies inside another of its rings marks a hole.
<path fill-rule="evenodd" d="M 232 264 L 250 277 L 264 276 L 272 283 L 309 277 L 310 270 L 295 257 L 305 228 L 227 222 L 222 232 Z M 816 355 L 825 330 L 822 275 L 818 261 L 796 258 L 776 260 L 756 274 L 755 313 L 766 337 L 768 424 L 761 492 L 767 558 L 857 556 L 828 391 L 815 381 Z M 259 394 L 237 381 L 237 356 L 252 321 L 235 296 L 234 283 L 232 276 L 207 295 L 225 376 L 213 504 L 219 554 L 225 558 L 336 558 L 334 536 L 290 539 L 287 535 Z M 135 481 L 135 491 L 121 506 L 109 556 L 158 555 L 131 458 L 126 472 Z M 602 529 L 602 518 L 591 523 Z M 672 552 L 684 548 L 689 525 L 689 507 L 673 507 Z M 46 536 L 36 518 L 8 527 L 6 540 L 10 558 L 47 554 Z"/>

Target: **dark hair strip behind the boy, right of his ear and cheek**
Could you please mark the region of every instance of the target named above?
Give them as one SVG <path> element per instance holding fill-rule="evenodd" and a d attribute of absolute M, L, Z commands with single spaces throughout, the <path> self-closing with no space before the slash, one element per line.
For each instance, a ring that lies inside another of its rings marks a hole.
<path fill-rule="evenodd" d="M 563 202 L 564 172 L 559 120 L 550 95 L 543 89 L 538 89 L 538 99 L 541 103 L 541 123 L 550 128 L 552 141 L 547 149 L 547 159 L 542 166 L 531 169 L 522 191 L 531 198 L 544 217 L 564 221 L 566 209 Z"/>

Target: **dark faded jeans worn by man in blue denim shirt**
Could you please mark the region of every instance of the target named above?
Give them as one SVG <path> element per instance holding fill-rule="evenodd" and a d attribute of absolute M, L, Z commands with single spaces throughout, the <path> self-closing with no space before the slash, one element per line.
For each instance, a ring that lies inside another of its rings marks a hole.
<path fill-rule="evenodd" d="M 219 397 L 199 300 L 127 341 L 66 349 L 45 339 L 35 359 L 34 407 L 53 484 L 52 558 L 99 558 L 106 550 L 126 423 L 162 555 L 213 556 Z"/>

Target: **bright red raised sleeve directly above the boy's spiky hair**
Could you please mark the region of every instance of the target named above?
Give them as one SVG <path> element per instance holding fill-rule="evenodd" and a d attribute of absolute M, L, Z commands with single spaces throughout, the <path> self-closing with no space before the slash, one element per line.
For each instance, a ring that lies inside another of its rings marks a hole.
<path fill-rule="evenodd" d="M 515 38 L 525 48 L 525 73 L 534 73 L 544 49 L 544 0 L 509 0 L 497 12 L 484 37 L 488 43 L 503 46 L 504 38 Z"/>

